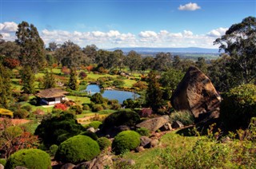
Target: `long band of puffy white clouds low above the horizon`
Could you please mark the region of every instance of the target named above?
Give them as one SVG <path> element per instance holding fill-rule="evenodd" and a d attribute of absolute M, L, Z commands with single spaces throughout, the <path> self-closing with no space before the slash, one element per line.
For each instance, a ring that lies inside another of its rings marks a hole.
<path fill-rule="evenodd" d="M 0 23 L 3 39 L 6 41 L 15 40 L 15 25 L 17 24 L 14 22 L 9 22 L 7 24 L 6 22 Z M 3 30 L 5 30 L 5 32 Z M 215 41 L 217 37 L 222 36 L 225 32 L 226 28 L 221 27 L 212 29 L 204 34 L 194 34 L 189 29 L 180 32 L 172 32 L 166 29 L 162 29 L 158 32 L 153 30 L 142 30 L 137 34 L 123 33 L 116 29 L 110 29 L 109 31 L 98 31 L 95 29 L 95 31 L 91 32 L 42 29 L 42 31 L 39 31 L 39 34 L 46 46 L 50 41 L 63 44 L 63 42 L 70 40 L 81 47 L 94 44 L 102 49 L 134 46 L 217 48 L 218 46 L 213 45 L 213 41 Z"/>

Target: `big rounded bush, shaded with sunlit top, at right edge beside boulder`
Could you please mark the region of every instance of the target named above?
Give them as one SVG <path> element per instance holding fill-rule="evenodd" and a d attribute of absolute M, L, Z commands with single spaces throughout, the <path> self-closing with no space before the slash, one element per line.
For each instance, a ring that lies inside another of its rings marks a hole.
<path fill-rule="evenodd" d="M 256 85 L 241 85 L 223 95 L 220 119 L 227 130 L 247 128 L 256 116 Z"/>

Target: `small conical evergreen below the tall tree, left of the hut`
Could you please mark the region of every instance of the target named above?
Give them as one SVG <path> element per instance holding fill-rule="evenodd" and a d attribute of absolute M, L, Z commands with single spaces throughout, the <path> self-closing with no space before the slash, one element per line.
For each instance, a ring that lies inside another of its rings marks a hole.
<path fill-rule="evenodd" d="M 29 65 L 24 66 L 20 70 L 20 75 L 22 78 L 22 90 L 27 94 L 34 94 L 35 86 L 34 86 L 34 73 Z"/>

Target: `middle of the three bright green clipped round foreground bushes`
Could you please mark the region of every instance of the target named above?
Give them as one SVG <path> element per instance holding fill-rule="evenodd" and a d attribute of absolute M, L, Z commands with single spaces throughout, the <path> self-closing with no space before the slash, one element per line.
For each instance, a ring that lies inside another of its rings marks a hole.
<path fill-rule="evenodd" d="M 100 153 L 98 143 L 89 136 L 74 136 L 58 146 L 55 159 L 64 163 L 79 163 L 94 159 Z"/>

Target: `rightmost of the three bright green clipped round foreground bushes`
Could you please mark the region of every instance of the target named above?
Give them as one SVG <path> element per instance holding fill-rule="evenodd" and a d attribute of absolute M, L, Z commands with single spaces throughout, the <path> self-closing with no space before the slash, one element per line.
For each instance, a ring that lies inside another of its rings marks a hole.
<path fill-rule="evenodd" d="M 140 135 L 138 132 L 134 131 L 124 131 L 118 133 L 117 136 L 114 137 L 114 141 L 112 143 L 112 150 L 116 155 L 122 154 L 125 151 L 133 150 L 138 147 L 140 143 Z"/>

